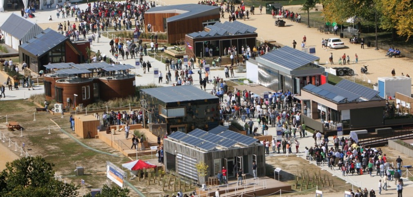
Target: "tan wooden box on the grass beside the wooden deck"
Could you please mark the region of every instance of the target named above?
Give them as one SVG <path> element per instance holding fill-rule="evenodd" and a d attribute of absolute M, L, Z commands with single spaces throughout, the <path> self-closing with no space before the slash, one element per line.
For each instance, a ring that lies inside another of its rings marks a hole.
<path fill-rule="evenodd" d="M 75 119 L 75 133 L 81 138 L 88 138 L 88 132 L 90 137 L 95 138 L 97 135 L 97 127 L 100 126 L 100 121 L 93 115 L 78 115 L 74 116 Z"/>

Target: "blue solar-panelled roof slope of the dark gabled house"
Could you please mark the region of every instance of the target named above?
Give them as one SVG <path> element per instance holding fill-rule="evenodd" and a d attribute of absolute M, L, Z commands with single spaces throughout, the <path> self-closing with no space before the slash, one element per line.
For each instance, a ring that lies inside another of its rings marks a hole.
<path fill-rule="evenodd" d="M 47 28 L 26 43 L 20 45 L 20 47 L 33 55 L 41 56 L 66 39 L 68 38 L 65 38 L 62 34 L 57 33 L 51 28 Z"/>

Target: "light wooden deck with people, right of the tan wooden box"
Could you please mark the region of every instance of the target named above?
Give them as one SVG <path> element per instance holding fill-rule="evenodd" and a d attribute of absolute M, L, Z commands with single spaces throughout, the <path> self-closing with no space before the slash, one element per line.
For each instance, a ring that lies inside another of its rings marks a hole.
<path fill-rule="evenodd" d="M 109 133 L 107 134 L 105 131 L 101 131 L 97 133 L 99 135 L 99 139 L 106 142 L 110 147 L 113 147 L 114 149 L 118 150 L 119 152 L 123 153 L 127 157 L 136 157 L 136 154 L 138 153 L 138 156 L 140 155 L 155 155 L 156 150 L 151 150 L 151 146 L 157 146 L 157 136 L 153 135 L 151 132 L 147 131 L 147 129 L 137 129 L 140 131 L 140 133 L 145 133 L 145 136 L 147 138 L 148 146 L 144 150 L 140 149 L 140 143 L 137 146 L 138 151 L 132 150 L 132 134 L 133 130 L 129 132 L 129 138 L 128 140 L 125 139 L 125 132 L 115 132 L 115 133 Z M 162 140 L 161 140 L 162 142 Z M 162 143 L 161 143 L 162 146 Z"/>

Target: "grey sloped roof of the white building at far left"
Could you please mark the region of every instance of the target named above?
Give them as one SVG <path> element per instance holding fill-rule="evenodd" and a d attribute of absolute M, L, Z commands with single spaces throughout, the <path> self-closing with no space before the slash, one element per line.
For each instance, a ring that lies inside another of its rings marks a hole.
<path fill-rule="evenodd" d="M 10 17 L 3 23 L 0 29 L 9 33 L 15 38 L 18 38 L 19 40 L 23 39 L 24 36 L 26 36 L 26 34 L 28 33 L 31 33 L 31 31 L 38 33 L 43 30 L 37 24 L 28 21 L 27 19 L 14 13 L 10 15 Z"/>

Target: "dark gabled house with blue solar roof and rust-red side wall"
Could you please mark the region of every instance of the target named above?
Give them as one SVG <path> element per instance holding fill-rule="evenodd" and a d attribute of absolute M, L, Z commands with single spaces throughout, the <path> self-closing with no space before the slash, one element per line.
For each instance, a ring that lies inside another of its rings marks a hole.
<path fill-rule="evenodd" d="M 57 31 L 47 28 L 19 46 L 19 62 L 26 61 L 34 72 L 45 71 L 45 65 L 60 62 L 80 64 L 87 58 L 88 40 L 72 42 Z"/>

